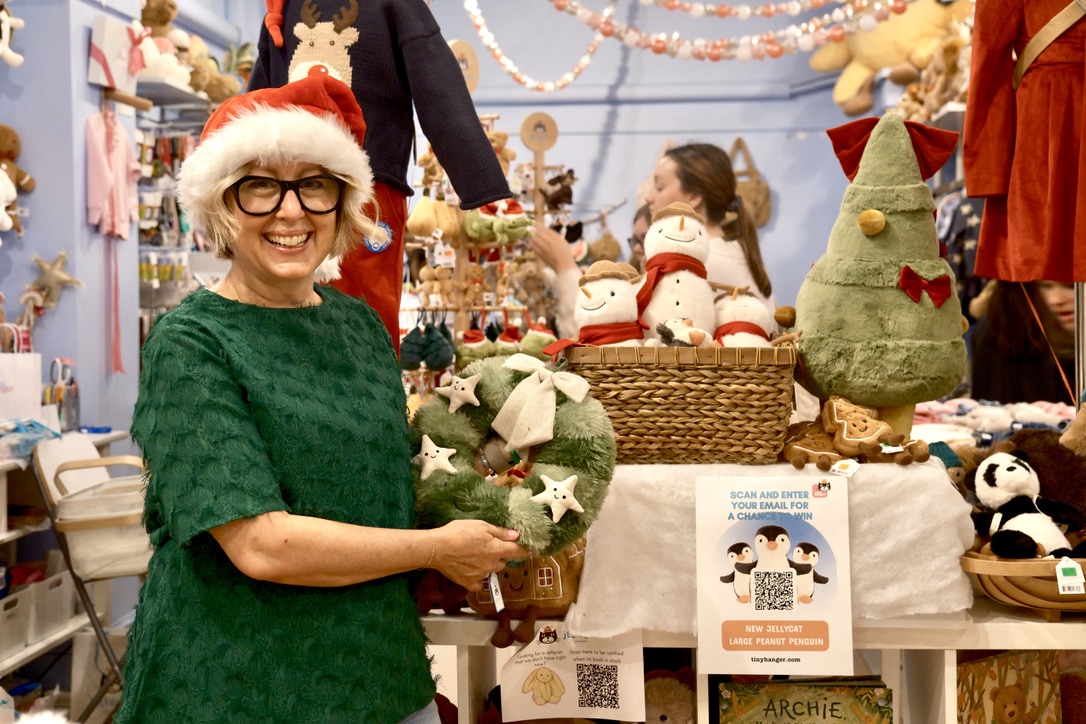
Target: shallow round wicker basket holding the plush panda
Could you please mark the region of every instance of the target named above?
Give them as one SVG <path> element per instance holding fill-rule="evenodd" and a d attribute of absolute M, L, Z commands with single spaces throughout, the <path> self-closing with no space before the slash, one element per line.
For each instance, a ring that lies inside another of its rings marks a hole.
<path fill-rule="evenodd" d="M 1086 559 L 1076 559 L 1086 568 Z M 1052 559 L 1009 560 L 999 558 L 985 546 L 968 550 L 961 567 L 984 594 L 1000 604 L 1021 606 L 1058 619 L 1058 612 L 1086 611 L 1086 594 L 1060 594 Z M 1051 615 L 1051 613 L 1057 615 Z"/>

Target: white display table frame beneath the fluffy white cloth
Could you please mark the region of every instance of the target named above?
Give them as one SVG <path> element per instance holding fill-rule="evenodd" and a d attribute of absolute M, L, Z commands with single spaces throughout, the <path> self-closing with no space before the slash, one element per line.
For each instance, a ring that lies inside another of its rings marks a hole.
<path fill-rule="evenodd" d="M 546 625 L 540 621 L 538 628 Z M 480 707 L 497 683 L 495 649 L 490 643 L 496 622 L 473 613 L 422 618 L 430 643 L 456 647 L 456 695 L 462 724 L 478 719 Z M 1026 609 L 977 597 L 961 614 L 859 619 L 853 622 L 853 646 L 881 652 L 882 676 L 894 691 L 895 722 L 957 721 L 959 649 L 1086 649 L 1086 615 L 1065 614 L 1049 623 Z M 645 631 L 646 648 L 697 648 L 692 635 Z M 699 724 L 709 721 L 708 676 L 698 675 Z"/>

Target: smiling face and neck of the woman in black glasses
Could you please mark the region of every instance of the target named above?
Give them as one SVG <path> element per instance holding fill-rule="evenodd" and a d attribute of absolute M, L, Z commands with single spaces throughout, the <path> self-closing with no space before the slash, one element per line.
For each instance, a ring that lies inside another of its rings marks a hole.
<path fill-rule="evenodd" d="M 275 163 L 249 170 L 252 176 L 294 180 L 323 173 L 306 163 Z M 228 275 L 241 301 L 274 304 L 313 289 L 313 272 L 325 261 L 336 238 L 339 212 L 311 214 L 288 191 L 278 211 L 251 216 L 238 208 L 231 192 L 226 203 L 241 225 L 233 240 L 233 265 Z"/>

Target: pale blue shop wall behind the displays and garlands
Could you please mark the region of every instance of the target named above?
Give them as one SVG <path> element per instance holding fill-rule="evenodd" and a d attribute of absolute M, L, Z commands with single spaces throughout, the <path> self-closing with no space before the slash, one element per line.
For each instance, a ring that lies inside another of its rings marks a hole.
<path fill-rule="evenodd" d="M 258 0 L 180 4 L 177 24 L 204 37 L 216 55 L 227 43 L 256 40 L 264 12 Z M 594 10 L 605 5 L 602 0 L 585 4 Z M 590 29 L 555 11 L 547 0 L 480 0 L 480 5 L 505 53 L 541 80 L 569 71 L 592 39 Z M 26 62 L 18 68 L 0 63 L 0 123 L 22 136 L 18 163 L 36 177 L 38 188 L 21 198 L 30 211 L 25 238 L 2 234 L 4 310 L 9 317 L 18 314 L 16 299 L 37 276 L 30 254 L 52 259 L 67 251 L 68 270 L 86 285 L 64 292 L 58 308 L 38 322 L 35 342 L 47 364 L 59 355 L 77 360 L 85 421 L 127 428 L 138 370 L 136 234 L 134 229 L 131 239 L 117 245 L 127 372 L 114 376 L 109 366 L 109 250 L 85 223 L 84 126 L 99 110 L 98 88 L 86 82 L 93 18 L 100 13 L 121 20 L 138 16 L 139 0 L 13 0 L 11 10 L 26 21 L 14 43 Z M 462 2 L 433 0 L 431 10 L 446 38 L 475 47 L 480 61 L 477 107 L 501 116 L 496 126 L 509 131 L 517 162 L 531 160 L 519 142 L 522 119 L 536 111 L 550 114 L 559 138 L 546 152 L 546 162 L 577 170 L 578 215 L 626 200 L 610 219 L 619 239 L 629 236 L 637 183 L 649 175 L 666 141 L 730 148 L 735 136 L 743 136 L 773 191 L 772 218 L 760 229 L 762 253 L 778 301 L 795 301 L 807 268 L 825 247 L 846 186 L 823 131 L 847 118 L 830 100 L 832 78 L 809 71 L 806 55 L 708 63 L 606 40 L 572 86 L 540 93 L 517 85 L 491 60 Z M 617 20 L 652 31 L 710 38 L 786 24 L 782 18 L 760 24 L 697 20 L 633 0 L 618 4 Z M 123 123 L 129 131 L 135 127 L 131 116 Z M 593 232 L 590 228 L 589 236 Z"/>

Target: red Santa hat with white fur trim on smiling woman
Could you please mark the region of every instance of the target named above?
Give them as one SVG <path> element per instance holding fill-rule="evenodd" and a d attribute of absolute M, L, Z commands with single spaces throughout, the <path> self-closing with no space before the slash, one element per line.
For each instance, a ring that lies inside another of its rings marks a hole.
<path fill-rule="evenodd" d="M 290 160 L 353 179 L 357 189 L 349 190 L 344 203 L 362 206 L 374 187 L 362 150 L 365 136 L 354 93 L 326 74 L 233 96 L 212 113 L 200 144 L 181 166 L 181 205 L 194 226 L 206 228 L 202 202 L 217 182 L 248 163 Z M 358 194 L 361 199 L 352 198 Z"/>

